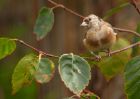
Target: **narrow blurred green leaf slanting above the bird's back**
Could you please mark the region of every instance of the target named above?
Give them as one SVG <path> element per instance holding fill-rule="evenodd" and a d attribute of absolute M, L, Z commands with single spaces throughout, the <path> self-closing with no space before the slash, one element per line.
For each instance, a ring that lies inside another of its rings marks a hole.
<path fill-rule="evenodd" d="M 114 7 L 112 9 L 110 9 L 109 11 L 107 11 L 107 13 L 105 14 L 104 16 L 104 20 L 108 19 L 110 16 L 112 16 L 113 14 L 119 12 L 120 10 L 122 10 L 124 7 L 130 5 L 129 2 L 125 2 L 125 3 L 122 3 L 120 5 L 118 5 L 117 7 Z"/>

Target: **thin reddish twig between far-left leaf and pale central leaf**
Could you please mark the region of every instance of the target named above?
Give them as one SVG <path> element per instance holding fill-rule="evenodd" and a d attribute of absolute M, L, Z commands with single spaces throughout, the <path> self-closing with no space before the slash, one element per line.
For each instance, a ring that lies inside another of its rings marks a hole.
<path fill-rule="evenodd" d="M 23 40 L 19 40 L 19 39 L 11 39 L 11 40 L 17 41 L 17 42 L 19 42 L 19 43 L 21 43 L 21 44 L 23 44 L 23 45 L 25 45 L 25 46 L 27 46 L 27 47 L 33 49 L 34 51 L 36 51 L 36 52 L 38 52 L 38 53 L 42 53 L 42 54 L 45 55 L 45 56 L 54 57 L 54 58 L 59 58 L 59 56 L 56 56 L 56 55 L 53 55 L 53 54 L 45 53 L 45 52 L 43 52 L 43 51 L 41 51 L 41 50 L 39 50 L 39 49 L 37 49 L 37 48 L 31 46 L 31 45 L 25 43 Z"/>

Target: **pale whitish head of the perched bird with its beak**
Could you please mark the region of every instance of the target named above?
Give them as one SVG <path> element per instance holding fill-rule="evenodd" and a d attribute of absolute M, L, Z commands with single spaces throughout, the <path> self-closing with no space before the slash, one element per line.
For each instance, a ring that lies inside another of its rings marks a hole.
<path fill-rule="evenodd" d="M 100 29 L 101 21 L 98 16 L 91 14 L 83 19 L 81 26 L 87 27 L 88 29 L 93 28 L 95 30 Z"/>

